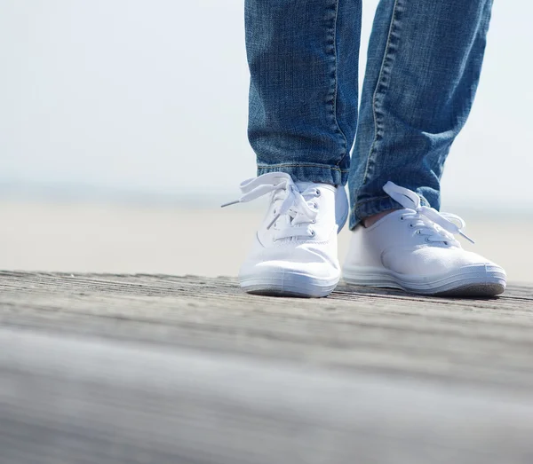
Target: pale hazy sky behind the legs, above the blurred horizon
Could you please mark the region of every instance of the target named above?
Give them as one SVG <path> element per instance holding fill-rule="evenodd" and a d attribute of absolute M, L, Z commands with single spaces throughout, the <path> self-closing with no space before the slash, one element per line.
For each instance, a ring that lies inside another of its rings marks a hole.
<path fill-rule="evenodd" d="M 444 205 L 533 209 L 533 3 L 517 4 L 495 2 Z M 0 61 L 0 182 L 227 193 L 255 175 L 243 0 L 1 0 Z"/>

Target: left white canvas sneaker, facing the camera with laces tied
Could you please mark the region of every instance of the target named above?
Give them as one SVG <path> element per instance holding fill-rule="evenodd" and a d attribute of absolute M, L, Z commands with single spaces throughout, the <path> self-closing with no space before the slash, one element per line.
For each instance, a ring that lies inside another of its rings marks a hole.
<path fill-rule="evenodd" d="M 337 233 L 346 223 L 343 187 L 301 182 L 271 172 L 241 184 L 230 204 L 270 193 L 267 216 L 239 272 L 244 291 L 259 295 L 327 296 L 337 287 Z"/>

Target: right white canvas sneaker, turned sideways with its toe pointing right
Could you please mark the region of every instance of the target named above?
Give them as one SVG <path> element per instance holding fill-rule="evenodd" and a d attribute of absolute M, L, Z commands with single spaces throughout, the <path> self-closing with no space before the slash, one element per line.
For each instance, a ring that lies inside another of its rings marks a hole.
<path fill-rule="evenodd" d="M 343 269 L 346 283 L 422 295 L 492 296 L 505 290 L 505 271 L 454 238 L 459 233 L 470 240 L 460 217 L 420 206 L 417 193 L 392 182 L 383 189 L 405 209 L 355 229 Z"/>

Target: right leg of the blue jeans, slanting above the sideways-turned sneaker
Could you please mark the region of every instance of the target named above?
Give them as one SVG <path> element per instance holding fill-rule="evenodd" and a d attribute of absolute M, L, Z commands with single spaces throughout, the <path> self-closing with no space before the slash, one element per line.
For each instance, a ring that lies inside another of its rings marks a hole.
<path fill-rule="evenodd" d="M 473 104 L 491 0 L 381 0 L 350 172 L 350 227 L 399 208 L 391 180 L 440 207 L 450 145 Z"/>

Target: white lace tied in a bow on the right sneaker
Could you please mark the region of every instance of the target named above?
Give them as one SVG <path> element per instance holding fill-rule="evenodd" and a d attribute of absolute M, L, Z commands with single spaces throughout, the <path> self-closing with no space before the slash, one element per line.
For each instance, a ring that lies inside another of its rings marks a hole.
<path fill-rule="evenodd" d="M 411 227 L 416 228 L 417 233 L 426 235 L 427 241 L 442 242 L 444 244 L 451 242 L 458 246 L 459 243 L 455 240 L 454 234 L 459 234 L 474 243 L 462 231 L 466 224 L 461 217 L 451 213 L 440 213 L 434 208 L 420 206 L 420 197 L 417 193 L 395 185 L 393 182 L 387 182 L 383 190 L 394 201 L 398 201 L 403 208 L 412 209 L 412 213 L 406 213 L 402 217 L 409 217 Z"/>

